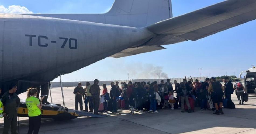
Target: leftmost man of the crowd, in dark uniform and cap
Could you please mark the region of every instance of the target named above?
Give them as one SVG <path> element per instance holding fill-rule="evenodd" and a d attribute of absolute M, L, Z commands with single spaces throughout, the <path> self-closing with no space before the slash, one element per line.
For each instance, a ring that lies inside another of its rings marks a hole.
<path fill-rule="evenodd" d="M 77 84 L 78 86 L 75 87 L 74 89 L 74 94 L 75 94 L 75 110 L 78 110 L 78 103 L 80 105 L 80 110 L 83 111 L 83 99 L 82 99 L 82 94 L 84 94 L 84 88 L 82 87 L 82 83 L 79 82 Z"/>

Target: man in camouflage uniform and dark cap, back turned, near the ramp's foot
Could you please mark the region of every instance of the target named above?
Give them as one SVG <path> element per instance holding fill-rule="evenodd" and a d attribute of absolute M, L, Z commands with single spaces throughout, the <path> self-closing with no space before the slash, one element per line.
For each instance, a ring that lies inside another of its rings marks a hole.
<path fill-rule="evenodd" d="M 92 95 L 92 103 L 93 103 L 93 110 L 94 114 L 98 114 L 99 109 L 99 95 L 100 95 L 100 88 L 99 88 L 99 80 L 95 79 L 94 84 L 91 85 L 90 93 Z"/>

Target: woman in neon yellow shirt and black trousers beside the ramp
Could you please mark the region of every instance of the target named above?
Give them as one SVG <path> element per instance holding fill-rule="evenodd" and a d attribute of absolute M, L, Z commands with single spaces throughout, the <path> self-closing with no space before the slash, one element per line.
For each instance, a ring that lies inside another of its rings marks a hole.
<path fill-rule="evenodd" d="M 39 99 L 37 98 L 37 89 L 36 88 L 29 88 L 27 89 L 27 99 L 26 99 L 26 106 L 29 115 L 29 131 L 28 134 L 37 134 L 39 132 L 41 126 L 41 108 L 42 108 L 42 100 L 44 97 Z"/>

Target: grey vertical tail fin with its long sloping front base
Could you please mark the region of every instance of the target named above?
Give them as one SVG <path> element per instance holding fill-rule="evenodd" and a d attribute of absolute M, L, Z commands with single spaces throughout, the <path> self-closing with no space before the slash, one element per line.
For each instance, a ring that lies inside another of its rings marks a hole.
<path fill-rule="evenodd" d="M 103 14 L 27 14 L 131 27 L 145 27 L 172 18 L 171 0 L 115 0 Z"/>

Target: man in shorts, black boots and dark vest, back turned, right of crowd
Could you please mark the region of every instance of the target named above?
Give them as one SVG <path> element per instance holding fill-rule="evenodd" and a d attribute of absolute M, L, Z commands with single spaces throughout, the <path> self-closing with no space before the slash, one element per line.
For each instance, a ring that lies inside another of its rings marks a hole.
<path fill-rule="evenodd" d="M 222 111 L 223 91 L 224 91 L 224 88 L 220 84 L 220 82 L 216 81 L 215 77 L 212 77 L 211 82 L 209 82 L 208 92 L 211 95 L 211 98 L 213 100 L 213 103 L 214 103 L 215 109 L 216 109 L 215 113 L 213 113 L 213 114 L 217 114 L 217 115 L 219 115 L 220 113 L 224 114 Z"/>

